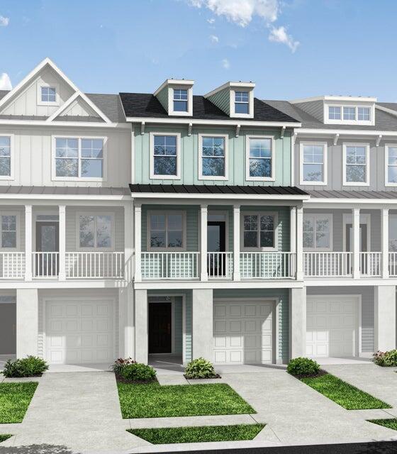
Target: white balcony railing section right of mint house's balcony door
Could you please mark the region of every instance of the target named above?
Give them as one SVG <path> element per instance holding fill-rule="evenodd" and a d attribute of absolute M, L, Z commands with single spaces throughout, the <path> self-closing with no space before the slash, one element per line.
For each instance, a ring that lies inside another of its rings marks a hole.
<path fill-rule="evenodd" d="M 282 279 L 295 277 L 295 253 L 240 253 L 242 279 Z"/>

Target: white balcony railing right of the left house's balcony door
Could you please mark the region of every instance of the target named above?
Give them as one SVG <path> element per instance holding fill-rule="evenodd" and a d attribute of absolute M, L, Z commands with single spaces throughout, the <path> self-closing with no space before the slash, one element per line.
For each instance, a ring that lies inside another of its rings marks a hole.
<path fill-rule="evenodd" d="M 67 252 L 66 277 L 69 279 L 122 279 L 124 253 Z"/>

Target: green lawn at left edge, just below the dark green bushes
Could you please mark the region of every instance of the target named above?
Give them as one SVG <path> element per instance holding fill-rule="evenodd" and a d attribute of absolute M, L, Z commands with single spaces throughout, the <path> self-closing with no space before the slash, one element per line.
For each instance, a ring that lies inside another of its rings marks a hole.
<path fill-rule="evenodd" d="M 38 382 L 0 383 L 0 423 L 21 423 Z"/>

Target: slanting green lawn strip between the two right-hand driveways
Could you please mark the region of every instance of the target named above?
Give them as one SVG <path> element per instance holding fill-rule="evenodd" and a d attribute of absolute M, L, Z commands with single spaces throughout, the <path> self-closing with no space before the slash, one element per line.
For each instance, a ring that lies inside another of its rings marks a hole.
<path fill-rule="evenodd" d="M 301 381 L 347 410 L 391 409 L 385 402 L 331 374 L 302 378 Z"/>

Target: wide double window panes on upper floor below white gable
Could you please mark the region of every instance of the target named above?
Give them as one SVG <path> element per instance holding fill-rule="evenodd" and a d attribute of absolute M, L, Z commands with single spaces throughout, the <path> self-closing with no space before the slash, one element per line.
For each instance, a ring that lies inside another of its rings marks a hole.
<path fill-rule="evenodd" d="M 104 138 L 55 138 L 55 177 L 103 179 Z"/>

